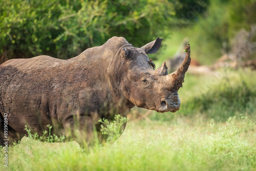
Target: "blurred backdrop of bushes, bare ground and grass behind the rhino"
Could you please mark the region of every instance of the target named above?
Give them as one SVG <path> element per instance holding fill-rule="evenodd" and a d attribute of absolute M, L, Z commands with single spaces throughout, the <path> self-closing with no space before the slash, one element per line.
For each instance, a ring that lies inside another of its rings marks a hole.
<path fill-rule="evenodd" d="M 0 64 L 38 55 L 68 59 L 112 36 L 135 47 L 160 37 L 163 46 L 150 58 L 157 67 L 165 60 L 171 72 L 189 43 L 192 61 L 179 91 L 180 111 L 134 108 L 129 118 L 225 121 L 243 113 L 256 119 L 255 9 L 255 0 L 2 0 Z"/>

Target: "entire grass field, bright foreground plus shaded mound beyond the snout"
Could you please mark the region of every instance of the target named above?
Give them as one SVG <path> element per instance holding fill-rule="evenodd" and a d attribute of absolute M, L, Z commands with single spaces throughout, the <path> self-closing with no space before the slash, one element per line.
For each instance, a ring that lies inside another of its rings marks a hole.
<path fill-rule="evenodd" d="M 148 111 L 132 109 L 112 145 L 85 151 L 72 143 L 53 147 L 31 140 L 10 146 L 8 168 L 1 162 L 0 170 L 256 170 L 256 73 L 219 72 L 207 89 L 216 75 L 187 74 L 177 113 L 138 117 Z"/>

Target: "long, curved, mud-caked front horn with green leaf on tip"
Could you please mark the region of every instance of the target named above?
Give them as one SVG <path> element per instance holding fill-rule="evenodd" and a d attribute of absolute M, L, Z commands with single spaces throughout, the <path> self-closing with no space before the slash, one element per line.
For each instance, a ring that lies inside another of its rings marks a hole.
<path fill-rule="evenodd" d="M 185 51 L 187 52 L 187 54 L 181 66 L 175 72 L 168 75 L 170 77 L 173 90 L 178 91 L 182 87 L 182 82 L 184 82 L 185 73 L 187 72 L 188 67 L 190 65 L 191 58 L 189 44 L 185 47 Z"/>

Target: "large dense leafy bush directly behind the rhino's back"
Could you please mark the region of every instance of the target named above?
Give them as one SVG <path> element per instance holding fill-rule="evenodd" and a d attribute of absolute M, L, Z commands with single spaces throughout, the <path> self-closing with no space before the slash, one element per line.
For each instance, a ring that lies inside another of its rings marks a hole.
<path fill-rule="evenodd" d="M 71 58 L 114 35 L 142 46 L 164 35 L 174 8 L 167 0 L 3 0 L 0 54 L 9 59 L 41 54 Z"/>

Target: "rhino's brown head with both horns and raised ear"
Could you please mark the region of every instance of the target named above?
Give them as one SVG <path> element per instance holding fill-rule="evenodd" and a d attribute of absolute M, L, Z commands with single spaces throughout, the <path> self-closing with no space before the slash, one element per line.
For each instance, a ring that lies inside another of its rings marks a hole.
<path fill-rule="evenodd" d="M 141 48 L 131 44 L 121 48 L 127 72 L 120 86 L 124 96 L 140 108 L 161 113 L 176 112 L 180 109 L 178 90 L 182 87 L 191 60 L 190 47 L 188 44 L 185 48 L 187 54 L 180 68 L 168 74 L 165 61 L 158 70 L 154 70 L 154 64 L 146 55 L 157 52 L 161 41 L 158 37 Z"/>

